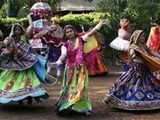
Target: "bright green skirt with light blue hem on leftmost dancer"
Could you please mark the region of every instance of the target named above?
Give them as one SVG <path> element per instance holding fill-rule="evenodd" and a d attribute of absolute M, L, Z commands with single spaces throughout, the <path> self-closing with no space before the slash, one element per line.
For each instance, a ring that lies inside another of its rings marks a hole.
<path fill-rule="evenodd" d="M 23 70 L 4 70 L 0 73 L 0 103 L 13 103 L 27 98 L 47 98 L 33 67 Z"/>

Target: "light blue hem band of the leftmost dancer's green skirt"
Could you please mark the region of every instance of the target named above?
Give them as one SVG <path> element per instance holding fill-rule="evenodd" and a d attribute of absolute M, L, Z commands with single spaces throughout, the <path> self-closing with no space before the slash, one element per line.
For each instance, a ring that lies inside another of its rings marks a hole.
<path fill-rule="evenodd" d="M 17 92 L 0 91 L 0 104 L 16 103 L 29 97 L 47 99 L 49 95 L 42 87 L 27 88 Z"/>

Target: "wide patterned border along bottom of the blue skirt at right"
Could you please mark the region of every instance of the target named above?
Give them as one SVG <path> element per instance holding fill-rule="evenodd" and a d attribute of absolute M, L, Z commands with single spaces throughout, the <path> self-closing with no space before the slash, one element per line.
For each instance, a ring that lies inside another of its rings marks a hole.
<path fill-rule="evenodd" d="M 107 101 L 109 106 L 122 110 L 156 110 L 160 109 L 160 100 L 151 101 L 125 101 L 120 100 L 116 96 L 109 95 Z"/>

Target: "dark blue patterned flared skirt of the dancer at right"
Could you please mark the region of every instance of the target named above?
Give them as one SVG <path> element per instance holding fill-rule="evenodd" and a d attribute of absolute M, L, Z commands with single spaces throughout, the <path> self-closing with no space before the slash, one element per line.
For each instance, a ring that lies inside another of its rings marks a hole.
<path fill-rule="evenodd" d="M 145 64 L 132 63 L 107 94 L 107 103 L 124 110 L 160 108 L 160 85 Z"/>

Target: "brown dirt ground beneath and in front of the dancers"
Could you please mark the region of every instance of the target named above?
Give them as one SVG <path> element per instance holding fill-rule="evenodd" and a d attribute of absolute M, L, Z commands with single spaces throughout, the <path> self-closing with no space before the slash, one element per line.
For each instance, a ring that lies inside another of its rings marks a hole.
<path fill-rule="evenodd" d="M 160 120 L 160 110 L 128 112 L 109 108 L 103 103 L 106 91 L 112 86 L 116 78 L 117 75 L 90 78 L 89 96 L 93 104 L 91 116 L 57 115 L 55 104 L 60 87 L 56 84 L 47 87 L 50 98 L 41 104 L 1 105 L 0 120 Z"/>

